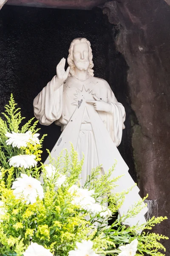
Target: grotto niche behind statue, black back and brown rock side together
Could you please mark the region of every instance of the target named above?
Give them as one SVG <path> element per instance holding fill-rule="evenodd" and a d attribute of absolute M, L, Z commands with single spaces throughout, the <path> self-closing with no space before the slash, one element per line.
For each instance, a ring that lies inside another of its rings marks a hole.
<path fill-rule="evenodd" d="M 31 118 L 33 99 L 56 74 L 59 60 L 67 58 L 71 41 L 80 36 L 88 38 L 95 75 L 108 81 L 125 106 L 126 128 L 118 148 L 120 154 L 133 180 L 138 182 L 141 195 L 149 193 L 148 216 L 169 218 L 169 0 L 104 2 L 101 9 L 91 11 L 3 6 L 0 111 L 12 92 L 23 116 Z M 54 124 L 39 127 L 41 133 L 49 135 L 44 149 L 51 150 L 60 128 Z M 42 160 L 46 157 L 44 153 Z M 167 220 L 154 231 L 170 236 L 169 227 Z M 164 241 L 164 245 L 169 255 L 169 241 Z"/>

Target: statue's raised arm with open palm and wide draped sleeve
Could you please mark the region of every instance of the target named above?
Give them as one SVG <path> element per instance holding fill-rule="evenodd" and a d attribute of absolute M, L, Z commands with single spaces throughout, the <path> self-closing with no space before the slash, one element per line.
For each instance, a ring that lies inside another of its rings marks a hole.
<path fill-rule="evenodd" d="M 50 125 L 62 115 L 63 82 L 67 79 L 70 68 L 65 71 L 65 59 L 57 65 L 57 76 L 48 82 L 34 99 L 34 115 L 42 125 Z"/>

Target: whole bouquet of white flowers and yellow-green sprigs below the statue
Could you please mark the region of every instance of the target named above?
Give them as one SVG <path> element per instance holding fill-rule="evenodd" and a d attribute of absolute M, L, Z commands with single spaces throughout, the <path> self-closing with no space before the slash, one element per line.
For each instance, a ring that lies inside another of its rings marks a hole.
<path fill-rule="evenodd" d="M 159 241 L 168 238 L 149 230 L 166 217 L 153 217 L 142 226 L 122 224 L 138 214 L 143 201 L 119 216 L 128 191 L 111 192 L 119 180 L 110 178 L 114 166 L 100 177 L 98 166 L 80 187 L 83 159 L 78 161 L 72 146 L 70 154 L 62 151 L 57 160 L 50 159 L 50 164 L 44 165 L 40 158 L 44 136 L 38 138 L 33 119 L 22 125 L 12 95 L 2 116 L 0 255 L 164 255 Z"/>

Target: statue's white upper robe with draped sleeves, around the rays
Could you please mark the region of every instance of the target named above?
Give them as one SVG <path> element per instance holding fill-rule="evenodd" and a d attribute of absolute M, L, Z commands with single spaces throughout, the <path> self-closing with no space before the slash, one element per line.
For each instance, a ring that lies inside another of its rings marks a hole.
<path fill-rule="evenodd" d="M 79 81 L 71 76 L 54 91 L 54 85 L 57 83 L 56 76 L 54 76 L 34 99 L 35 117 L 42 125 L 55 122 L 56 125 L 61 126 L 61 131 L 63 131 L 77 108 L 77 105 L 72 105 L 75 99 L 74 94 L 77 89 L 82 90 L 84 85 L 86 90 L 92 90 L 98 98 L 111 103 L 113 113 L 98 111 L 98 114 L 105 123 L 113 142 L 118 146 L 122 140 L 122 129 L 125 128 L 125 108 L 117 101 L 107 81 L 96 77 L 90 77 L 90 79 L 92 81 L 89 84 L 89 79 Z"/>

